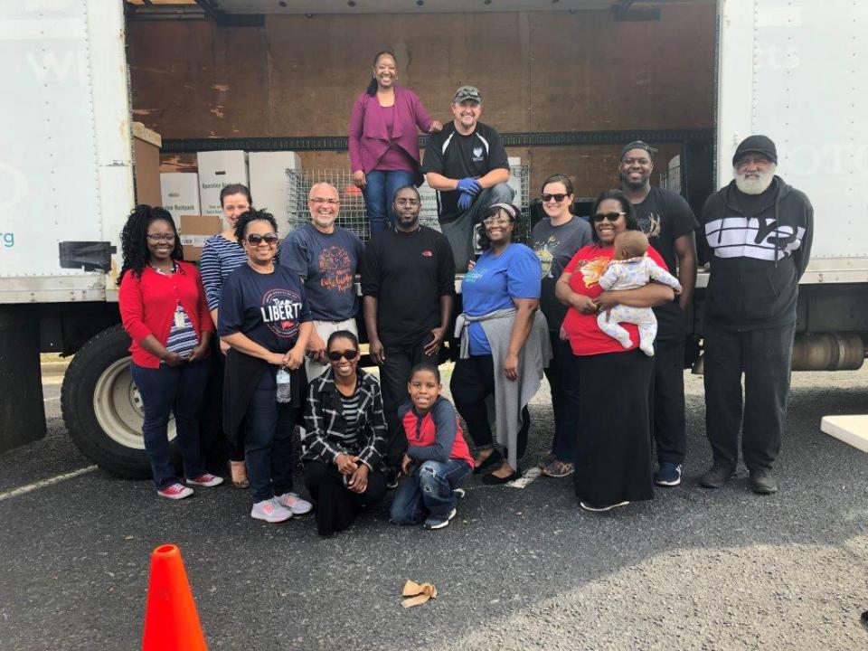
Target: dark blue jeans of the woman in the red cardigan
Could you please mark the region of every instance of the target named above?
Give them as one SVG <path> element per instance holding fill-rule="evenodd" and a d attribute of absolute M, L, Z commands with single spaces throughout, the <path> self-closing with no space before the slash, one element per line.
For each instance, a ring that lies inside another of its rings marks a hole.
<path fill-rule="evenodd" d="M 210 368 L 210 359 L 175 368 L 165 364 L 156 369 L 130 364 L 133 382 L 145 407 L 142 436 L 157 490 L 178 481 L 167 431 L 170 412 L 175 413 L 176 440 L 184 460 L 184 476 L 192 479 L 205 472 L 199 445 L 199 413 Z"/>

